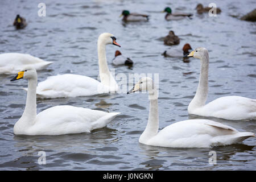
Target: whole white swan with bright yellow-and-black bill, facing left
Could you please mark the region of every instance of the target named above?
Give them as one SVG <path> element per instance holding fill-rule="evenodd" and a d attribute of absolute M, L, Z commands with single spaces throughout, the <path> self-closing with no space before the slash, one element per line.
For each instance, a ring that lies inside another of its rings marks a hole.
<path fill-rule="evenodd" d="M 120 113 L 74 106 L 50 107 L 36 115 L 36 69 L 27 67 L 11 81 L 28 80 L 27 101 L 22 117 L 14 125 L 15 135 L 63 135 L 90 132 L 105 127 Z"/>

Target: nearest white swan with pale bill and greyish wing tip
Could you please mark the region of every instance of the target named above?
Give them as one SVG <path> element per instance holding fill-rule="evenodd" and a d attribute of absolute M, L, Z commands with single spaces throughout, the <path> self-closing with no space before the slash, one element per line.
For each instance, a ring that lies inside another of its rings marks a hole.
<path fill-rule="evenodd" d="M 158 132 L 158 90 L 149 77 L 143 77 L 127 94 L 136 91 L 148 92 L 150 110 L 146 129 L 139 142 L 150 146 L 210 148 L 240 143 L 249 137 L 250 132 L 239 132 L 233 127 L 208 119 L 188 119 L 169 125 Z"/>

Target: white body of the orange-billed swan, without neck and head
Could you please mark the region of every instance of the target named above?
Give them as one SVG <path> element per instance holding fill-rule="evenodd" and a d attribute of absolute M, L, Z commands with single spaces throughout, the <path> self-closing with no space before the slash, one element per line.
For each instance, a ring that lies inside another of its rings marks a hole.
<path fill-rule="evenodd" d="M 114 79 L 112 77 L 112 79 Z M 105 86 L 94 78 L 75 74 L 48 77 L 36 88 L 38 98 L 94 96 L 116 92 L 118 85 Z M 27 90 L 27 89 L 25 89 Z"/>

